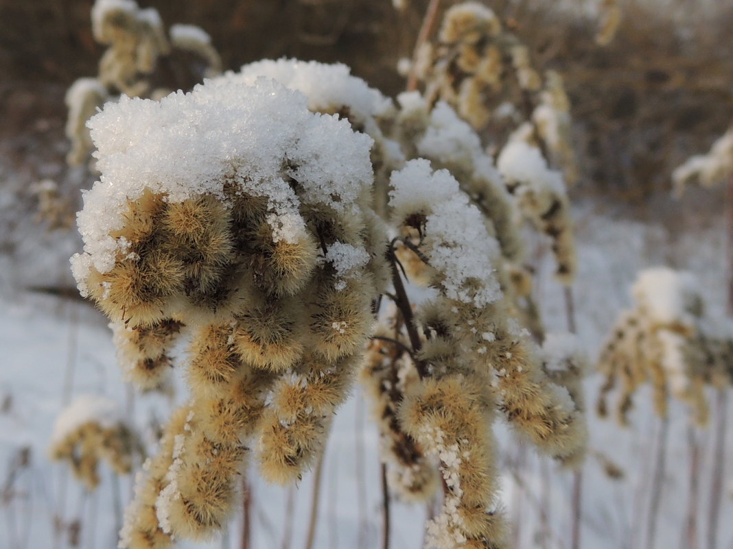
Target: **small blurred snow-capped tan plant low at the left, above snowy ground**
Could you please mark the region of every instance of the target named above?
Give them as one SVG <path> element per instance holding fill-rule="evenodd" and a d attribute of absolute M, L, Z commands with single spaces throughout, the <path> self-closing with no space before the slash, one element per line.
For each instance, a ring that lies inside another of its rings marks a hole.
<path fill-rule="evenodd" d="M 101 460 L 115 473 L 128 474 L 137 449 L 133 431 L 122 420 L 114 400 L 82 395 L 56 418 L 49 455 L 67 461 L 86 489 L 94 490 Z"/>

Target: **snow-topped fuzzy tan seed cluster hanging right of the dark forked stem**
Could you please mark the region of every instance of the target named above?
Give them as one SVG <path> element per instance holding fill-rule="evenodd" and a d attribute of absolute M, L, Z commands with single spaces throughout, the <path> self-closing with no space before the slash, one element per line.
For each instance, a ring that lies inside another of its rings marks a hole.
<path fill-rule="evenodd" d="M 440 461 L 443 512 L 428 534 L 435 547 L 503 547 L 496 510 L 496 410 L 542 451 L 576 463 L 585 447 L 582 411 L 553 384 L 531 343 L 509 318 L 492 264 L 499 255 L 479 209 L 447 171 L 412 160 L 392 176 L 394 225 L 416 231 L 435 297 L 421 304 L 426 338 L 416 360 L 426 375 L 400 408 L 405 431 Z M 420 197 L 419 200 L 408 197 Z M 457 220 L 461 220 L 457 223 Z M 432 532 L 432 533 L 431 533 Z"/>

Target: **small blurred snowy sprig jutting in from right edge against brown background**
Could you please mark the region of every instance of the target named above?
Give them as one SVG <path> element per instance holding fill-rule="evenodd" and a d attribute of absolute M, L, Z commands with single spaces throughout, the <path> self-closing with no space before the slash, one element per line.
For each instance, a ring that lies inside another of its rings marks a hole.
<path fill-rule="evenodd" d="M 730 173 L 733 173 L 733 127 L 712 143 L 710 152 L 690 157 L 672 172 L 674 192 L 681 196 L 690 181 L 712 187 Z"/>

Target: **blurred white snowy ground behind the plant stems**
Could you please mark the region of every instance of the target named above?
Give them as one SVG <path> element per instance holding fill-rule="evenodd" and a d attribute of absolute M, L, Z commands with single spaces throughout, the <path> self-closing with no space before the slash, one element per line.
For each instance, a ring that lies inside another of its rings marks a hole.
<path fill-rule="evenodd" d="M 0 193 L 7 199 L 8 193 Z M 702 198 L 701 198 L 702 197 Z M 575 285 L 578 329 L 591 356 L 621 307 L 630 303 L 629 288 L 644 266 L 669 264 L 689 269 L 701 280 L 712 307 L 723 307 L 723 223 L 721 206 L 701 192 L 682 204 L 659 198 L 646 214 L 586 199 L 575 206 L 580 273 Z M 712 206 L 710 206 L 712 204 Z M 0 201 L 0 209 L 4 204 Z M 8 211 L 5 209 L 4 211 Z M 622 217 L 621 214 L 624 214 Z M 647 221 L 642 223 L 638 219 Z M 635 220 L 636 219 L 636 220 Z M 650 221 L 654 219 L 655 221 Z M 6 227 L 7 228 L 7 227 Z M 67 257 L 78 245 L 75 237 L 47 235 L 27 219 L 15 226 L 12 250 L 0 251 L 0 547 L 7 549 L 114 548 L 121 509 L 130 497 L 131 479 L 114 482 L 101 469 L 103 482 L 85 493 L 64 466 L 46 456 L 54 418 L 75 395 L 108 395 L 152 440 L 152 425 L 162 421 L 174 401 L 185 398 L 177 381 L 171 400 L 131 395 L 115 366 L 111 333 L 92 307 L 68 297 L 23 291 L 45 285 L 71 285 Z M 565 324 L 564 301 L 553 282 L 547 250 L 537 246 L 537 292 L 551 332 Z M 593 408 L 600 376 L 589 377 L 586 388 Z M 649 392 L 636 397 L 633 427 L 589 414 L 592 452 L 583 484 L 582 547 L 636 549 L 644 547 L 649 487 L 655 461 L 659 422 L 649 406 Z M 315 548 L 371 549 L 380 546 L 381 490 L 377 436 L 360 392 L 342 409 L 328 441 L 317 521 Z M 504 463 L 504 502 L 507 517 L 517 526 L 517 547 L 569 548 L 572 477 L 539 460 L 531 449 L 518 447 L 504 426 L 499 427 Z M 712 437 L 696 433 L 701 444 L 699 474 L 699 548 L 707 531 Z M 727 455 L 732 455 L 733 436 Z M 683 536 L 688 507 L 688 424 L 682 406 L 672 408 L 668 466 L 664 478 L 658 526 L 658 548 L 685 549 Z M 605 474 L 610 460 L 624 471 L 622 479 Z M 733 471 L 729 471 L 733 474 Z M 251 547 L 303 546 L 312 507 L 312 474 L 297 490 L 266 485 L 255 471 Z M 733 547 L 733 501 L 726 486 L 721 513 L 720 548 Z M 547 514 L 542 531 L 540 510 Z M 421 547 L 425 506 L 395 504 L 392 548 Z M 78 524 L 78 539 L 72 539 Z M 223 539 L 207 547 L 240 547 L 241 521 L 232 521 Z M 290 545 L 287 544 L 290 539 Z M 195 547 L 196 545 L 181 545 Z"/>

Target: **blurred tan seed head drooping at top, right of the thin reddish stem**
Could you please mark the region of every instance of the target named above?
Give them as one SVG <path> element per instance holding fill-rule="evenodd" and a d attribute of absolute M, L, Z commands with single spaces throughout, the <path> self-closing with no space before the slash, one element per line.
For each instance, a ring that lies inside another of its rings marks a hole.
<path fill-rule="evenodd" d="M 553 239 L 559 279 L 572 283 L 575 244 L 565 184 L 578 179 L 578 168 L 570 135 L 570 102 L 559 73 L 548 71 L 542 78 L 531 64 L 526 46 L 504 29 L 492 10 L 474 1 L 446 11 L 438 42 L 426 46 L 418 68 L 425 87 L 424 111 L 432 111 L 433 118 L 440 117 L 430 123 L 430 133 L 438 135 L 426 135 L 423 149 L 428 150 L 426 154 L 419 152 L 431 160 L 437 156 L 443 162 L 446 159 L 441 157 L 452 156 L 447 160 L 463 163 L 464 170 L 465 165 L 476 164 L 475 160 L 467 163 L 456 159 L 452 152 L 465 152 L 466 147 L 446 146 L 446 141 L 455 141 L 457 136 L 441 130 L 450 109 L 441 107 L 439 101 L 452 105 L 455 113 L 474 128 L 488 132 L 498 152 L 497 165 L 504 184 L 515 195 L 519 211 L 537 230 Z M 474 157 L 485 155 L 478 136 L 468 141 L 475 141 L 479 147 Z M 488 174 L 483 164 L 481 161 L 478 165 L 481 179 L 496 182 L 497 177 Z M 552 165 L 561 171 L 553 170 Z M 479 181 L 487 188 L 482 183 Z M 480 192 L 474 188 L 473 195 Z M 503 201 L 496 191 L 485 193 L 485 203 L 495 203 L 493 209 L 507 212 L 501 205 Z M 507 231 L 498 233 L 500 239 L 506 235 Z"/>

